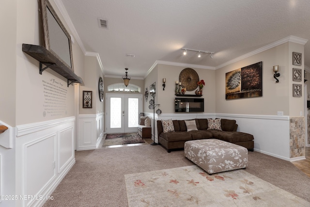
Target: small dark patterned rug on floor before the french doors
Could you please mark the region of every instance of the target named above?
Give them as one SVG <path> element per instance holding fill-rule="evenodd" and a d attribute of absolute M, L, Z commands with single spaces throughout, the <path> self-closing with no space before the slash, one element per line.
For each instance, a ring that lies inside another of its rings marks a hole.
<path fill-rule="evenodd" d="M 107 134 L 103 146 L 145 143 L 137 132 L 134 133 L 117 133 Z"/>

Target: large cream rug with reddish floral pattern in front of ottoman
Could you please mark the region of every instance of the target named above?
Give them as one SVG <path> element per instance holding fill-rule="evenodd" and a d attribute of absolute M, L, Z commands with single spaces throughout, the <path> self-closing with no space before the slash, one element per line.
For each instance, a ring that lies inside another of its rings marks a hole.
<path fill-rule="evenodd" d="M 124 176 L 129 207 L 310 207 L 244 170 L 209 175 L 193 165 Z"/>

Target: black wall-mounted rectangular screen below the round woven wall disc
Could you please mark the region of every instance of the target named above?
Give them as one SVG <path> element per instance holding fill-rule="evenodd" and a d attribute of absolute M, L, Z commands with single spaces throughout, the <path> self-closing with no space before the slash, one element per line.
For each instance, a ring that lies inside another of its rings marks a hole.
<path fill-rule="evenodd" d="M 203 112 L 204 98 L 175 98 L 175 112 Z"/>

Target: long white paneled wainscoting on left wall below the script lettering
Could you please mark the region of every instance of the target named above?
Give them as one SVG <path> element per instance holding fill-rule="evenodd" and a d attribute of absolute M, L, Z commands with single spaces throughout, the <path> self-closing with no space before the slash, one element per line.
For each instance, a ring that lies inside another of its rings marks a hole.
<path fill-rule="evenodd" d="M 16 126 L 16 206 L 43 206 L 75 163 L 75 117 Z M 28 196 L 28 197 L 27 197 Z"/>

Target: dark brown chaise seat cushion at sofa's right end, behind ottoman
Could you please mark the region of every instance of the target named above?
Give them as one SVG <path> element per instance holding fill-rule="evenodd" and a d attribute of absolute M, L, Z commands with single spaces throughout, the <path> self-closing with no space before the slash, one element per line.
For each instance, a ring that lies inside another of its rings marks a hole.
<path fill-rule="evenodd" d="M 223 140 L 229 143 L 235 142 L 247 142 L 254 140 L 253 135 L 239 132 L 239 131 L 220 131 L 220 130 L 208 130 L 212 133 L 213 137 L 219 140 Z"/>

